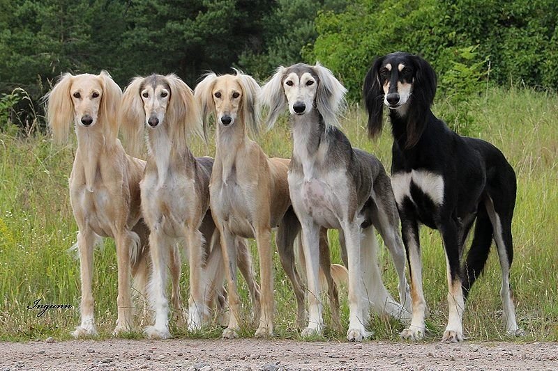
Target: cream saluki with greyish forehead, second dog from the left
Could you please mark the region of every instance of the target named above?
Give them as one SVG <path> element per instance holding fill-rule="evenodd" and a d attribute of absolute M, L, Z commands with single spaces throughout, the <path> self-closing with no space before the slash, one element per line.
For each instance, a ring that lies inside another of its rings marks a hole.
<path fill-rule="evenodd" d="M 216 285 L 222 285 L 224 274 L 220 246 L 213 247 L 216 228 L 208 210 L 213 159 L 196 158 L 188 148 L 190 134 L 204 137 L 193 91 L 174 74 L 136 77 L 124 92 L 120 119 L 133 151 L 137 151 L 147 128 L 149 156 L 140 188 L 142 212 L 151 231 L 149 301 L 155 310 L 155 323 L 146 327 L 146 336 L 170 336 L 167 265 L 172 275 L 173 306 L 181 319 L 181 258 L 176 248 L 180 242 L 186 242 L 190 262 L 188 330 L 196 331 L 209 314 L 209 305 L 219 290 Z"/>

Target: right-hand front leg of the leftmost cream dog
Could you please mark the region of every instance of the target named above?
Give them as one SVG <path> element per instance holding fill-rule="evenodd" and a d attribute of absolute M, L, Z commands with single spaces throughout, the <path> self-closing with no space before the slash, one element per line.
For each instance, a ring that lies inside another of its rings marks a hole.
<path fill-rule="evenodd" d="M 139 243 L 139 240 L 137 241 Z M 132 297 L 130 295 L 130 246 L 135 244 L 129 230 L 123 230 L 116 235 L 116 261 L 118 265 L 118 297 L 116 303 L 118 305 L 118 318 L 116 319 L 116 327 L 114 335 L 130 331 L 133 324 L 133 306 Z"/>

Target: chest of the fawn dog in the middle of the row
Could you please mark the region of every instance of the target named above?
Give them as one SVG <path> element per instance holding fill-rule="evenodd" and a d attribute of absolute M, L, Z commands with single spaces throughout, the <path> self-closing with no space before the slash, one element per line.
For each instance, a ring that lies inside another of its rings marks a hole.
<path fill-rule="evenodd" d="M 253 187 L 247 185 L 240 187 L 232 178 L 229 178 L 226 184 L 220 182 L 216 186 L 211 186 L 211 210 L 235 235 L 254 237 L 252 228 L 254 210 L 252 209 L 256 201 L 256 187 L 256 184 Z"/>

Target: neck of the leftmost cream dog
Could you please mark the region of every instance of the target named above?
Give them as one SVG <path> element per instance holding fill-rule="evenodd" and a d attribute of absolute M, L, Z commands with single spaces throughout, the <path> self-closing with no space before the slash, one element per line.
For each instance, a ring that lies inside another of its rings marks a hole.
<path fill-rule="evenodd" d="M 110 143 L 105 138 L 102 123 L 98 122 L 93 127 L 82 127 L 76 125 L 75 134 L 77 136 L 77 152 L 80 161 L 75 162 L 74 167 L 82 166 L 85 177 L 87 191 L 93 192 L 93 184 L 100 167 L 100 157 L 114 147 L 115 143 Z M 114 141 L 116 142 L 116 141 Z"/>

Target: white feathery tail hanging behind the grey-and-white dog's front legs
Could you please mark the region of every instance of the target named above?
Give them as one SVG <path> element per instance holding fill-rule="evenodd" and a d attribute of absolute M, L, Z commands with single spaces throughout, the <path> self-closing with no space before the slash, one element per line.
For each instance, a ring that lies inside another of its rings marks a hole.
<path fill-rule="evenodd" d="M 378 267 L 378 242 L 372 226 L 363 230 L 361 241 L 361 269 L 364 296 L 377 313 L 385 313 L 397 319 L 408 319 L 409 313 L 395 301 L 384 286 Z"/>

